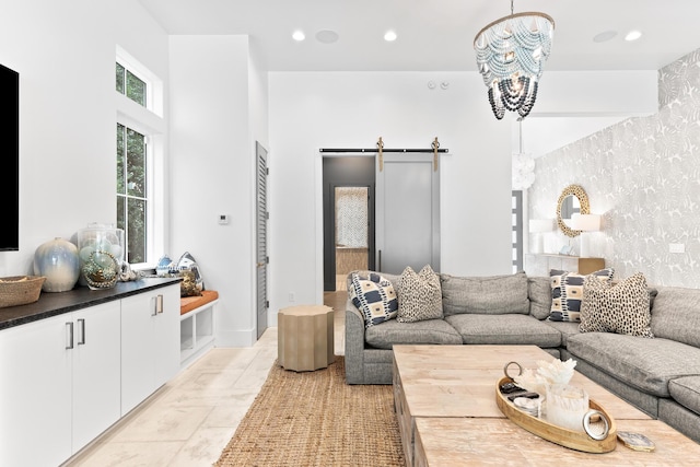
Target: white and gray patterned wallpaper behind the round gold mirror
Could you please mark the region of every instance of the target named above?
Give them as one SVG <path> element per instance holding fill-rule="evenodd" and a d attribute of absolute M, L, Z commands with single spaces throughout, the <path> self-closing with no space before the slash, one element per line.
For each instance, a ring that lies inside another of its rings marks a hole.
<path fill-rule="evenodd" d="M 583 186 L 602 232 L 584 233 L 588 256 L 617 279 L 700 287 L 700 49 L 658 71 L 658 113 L 623 120 L 537 159 L 530 219 L 555 218 L 561 190 Z M 546 234 L 546 252 L 579 238 Z M 530 234 L 530 245 L 534 238 Z M 669 253 L 682 244 L 685 253 Z"/>

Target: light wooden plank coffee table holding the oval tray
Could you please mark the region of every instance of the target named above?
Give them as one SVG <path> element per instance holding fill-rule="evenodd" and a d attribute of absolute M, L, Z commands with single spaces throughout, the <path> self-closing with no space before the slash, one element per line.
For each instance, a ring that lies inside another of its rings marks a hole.
<path fill-rule="evenodd" d="M 615 418 L 618 431 L 646 434 L 653 453 L 620 443 L 607 454 L 581 453 L 545 441 L 505 418 L 495 405 L 494 385 L 503 366 L 525 369 L 552 357 L 535 346 L 395 346 L 394 400 L 407 465 L 544 465 L 556 458 L 595 465 L 679 465 L 697 459 L 700 445 L 653 420 L 604 387 L 575 373 L 584 388 Z M 690 457 L 686 457 L 689 455 Z"/>

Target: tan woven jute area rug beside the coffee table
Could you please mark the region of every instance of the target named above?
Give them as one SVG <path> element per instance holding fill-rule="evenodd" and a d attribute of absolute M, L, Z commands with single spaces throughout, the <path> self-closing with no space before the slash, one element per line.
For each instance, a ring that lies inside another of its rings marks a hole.
<path fill-rule="evenodd" d="M 342 357 L 304 373 L 276 362 L 215 464 L 404 465 L 392 386 L 347 385 Z"/>

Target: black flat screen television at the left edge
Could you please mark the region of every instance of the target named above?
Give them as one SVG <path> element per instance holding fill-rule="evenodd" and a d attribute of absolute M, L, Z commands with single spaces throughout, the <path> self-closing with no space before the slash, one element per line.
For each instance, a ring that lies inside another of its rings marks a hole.
<path fill-rule="evenodd" d="M 20 249 L 20 73 L 0 65 L 0 252 Z"/>

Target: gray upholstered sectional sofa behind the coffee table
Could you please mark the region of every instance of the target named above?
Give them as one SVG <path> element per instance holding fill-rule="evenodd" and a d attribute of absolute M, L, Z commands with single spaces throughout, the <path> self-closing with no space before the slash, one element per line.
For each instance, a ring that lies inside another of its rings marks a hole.
<path fill-rule="evenodd" d="M 382 276 L 398 290 L 399 276 Z M 442 319 L 390 319 L 365 328 L 362 313 L 348 300 L 348 384 L 392 384 L 394 345 L 535 345 L 575 360 L 587 377 L 700 442 L 700 290 L 655 288 L 655 337 L 649 339 L 580 332 L 578 323 L 548 320 L 548 277 L 440 277 Z"/>

